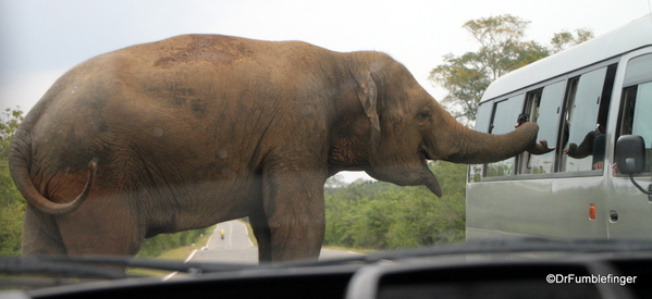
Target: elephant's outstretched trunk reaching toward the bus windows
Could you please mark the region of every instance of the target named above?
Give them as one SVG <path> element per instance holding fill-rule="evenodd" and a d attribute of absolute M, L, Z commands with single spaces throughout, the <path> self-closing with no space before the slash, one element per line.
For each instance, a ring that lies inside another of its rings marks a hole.
<path fill-rule="evenodd" d="M 441 160 L 464 164 L 491 163 L 539 147 L 537 144 L 539 126 L 534 123 L 525 123 L 515 130 L 502 135 L 477 132 L 454 120 L 450 124 L 454 128 L 445 130 L 448 134 L 445 140 L 451 140 L 454 146 L 448 147 L 448 151 L 440 151 Z"/>

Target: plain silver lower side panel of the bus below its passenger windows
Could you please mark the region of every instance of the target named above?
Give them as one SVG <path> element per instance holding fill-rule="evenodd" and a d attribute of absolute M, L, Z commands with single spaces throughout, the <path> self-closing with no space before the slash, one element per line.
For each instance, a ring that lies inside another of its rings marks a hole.
<path fill-rule="evenodd" d="M 602 176 L 468 184 L 466 237 L 606 238 L 605 192 Z"/>

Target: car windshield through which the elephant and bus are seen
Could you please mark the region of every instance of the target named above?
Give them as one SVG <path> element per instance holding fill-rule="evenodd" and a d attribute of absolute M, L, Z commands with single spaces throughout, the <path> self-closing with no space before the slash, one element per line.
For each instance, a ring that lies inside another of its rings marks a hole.
<path fill-rule="evenodd" d="M 601 43 L 648 10 L 0 0 L 0 256 L 29 275 L 101 257 L 93 275 L 169 279 L 514 237 L 652 240 L 648 196 L 618 169 L 639 161 L 632 179 L 652 186 L 652 50 L 620 42 L 652 27 Z M 642 160 L 618 165 L 625 135 Z"/>

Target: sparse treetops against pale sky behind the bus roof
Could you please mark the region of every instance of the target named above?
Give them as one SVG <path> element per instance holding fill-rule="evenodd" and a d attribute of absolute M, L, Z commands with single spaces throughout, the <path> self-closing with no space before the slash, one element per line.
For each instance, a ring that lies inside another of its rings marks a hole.
<path fill-rule="evenodd" d="M 480 48 L 459 57 L 446 54 L 429 79 L 448 91 L 441 101 L 459 122 L 471 125 L 489 85 L 506 73 L 593 37 L 589 29 L 555 34 L 551 46 L 524 40 L 529 21 L 509 14 L 468 21 L 463 25 Z"/>

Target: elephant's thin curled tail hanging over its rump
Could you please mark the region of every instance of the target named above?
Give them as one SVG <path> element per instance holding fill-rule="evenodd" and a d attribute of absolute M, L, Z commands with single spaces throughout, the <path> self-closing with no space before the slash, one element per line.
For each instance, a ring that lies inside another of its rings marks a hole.
<path fill-rule="evenodd" d="M 19 129 L 19 132 L 21 132 Z M 19 133 L 16 132 L 16 133 Z M 16 134 L 17 135 L 17 134 Z M 28 134 L 26 134 L 28 136 Z M 10 152 L 9 152 L 9 167 L 11 171 L 11 176 L 16 185 L 19 191 L 23 195 L 25 200 L 32 204 L 34 208 L 51 215 L 61 215 L 75 211 L 90 194 L 90 189 L 95 184 L 95 177 L 97 173 L 97 160 L 93 159 L 90 163 L 88 163 L 88 179 L 86 180 L 86 186 L 84 190 L 77 198 L 67 203 L 57 203 L 52 202 L 49 199 L 45 198 L 34 186 L 32 178 L 29 177 L 29 160 L 30 153 L 25 154 L 23 150 L 30 149 L 30 138 L 15 138 L 19 136 L 14 136 L 14 140 L 12 141 Z M 21 145 L 19 140 L 27 141 L 27 145 Z M 27 147 L 25 147 L 27 146 Z"/>

